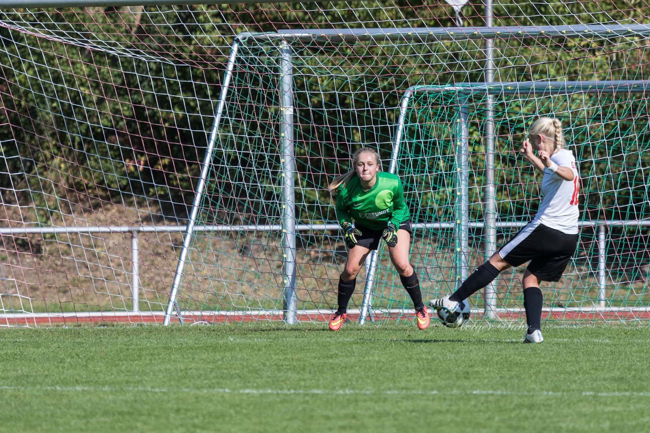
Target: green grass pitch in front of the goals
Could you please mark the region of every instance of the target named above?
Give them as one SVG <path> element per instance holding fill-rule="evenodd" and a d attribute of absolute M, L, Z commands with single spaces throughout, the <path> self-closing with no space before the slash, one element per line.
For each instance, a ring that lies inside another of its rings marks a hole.
<path fill-rule="evenodd" d="M 644 431 L 650 328 L 0 331 L 0 430 Z"/>

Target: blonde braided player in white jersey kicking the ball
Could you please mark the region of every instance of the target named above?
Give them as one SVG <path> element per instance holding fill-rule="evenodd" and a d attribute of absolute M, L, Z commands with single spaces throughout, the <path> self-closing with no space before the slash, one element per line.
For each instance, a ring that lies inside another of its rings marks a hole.
<path fill-rule="evenodd" d="M 468 308 L 465 299 L 487 286 L 501 271 L 530 261 L 521 280 L 528 325 L 523 342 L 541 343 L 543 297 L 539 283 L 559 281 L 575 253 L 580 180 L 573 153 L 564 149 L 562 125 L 558 119 L 537 119 L 519 153 L 543 173 L 542 199 L 536 216 L 487 262 L 474 269 L 452 295 L 433 299 L 429 304 L 436 310 L 457 314 Z"/>

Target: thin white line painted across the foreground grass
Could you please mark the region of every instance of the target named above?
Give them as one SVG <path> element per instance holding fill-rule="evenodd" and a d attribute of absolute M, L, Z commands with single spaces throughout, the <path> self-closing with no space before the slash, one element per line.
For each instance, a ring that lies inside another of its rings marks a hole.
<path fill-rule="evenodd" d="M 101 392 L 151 392 L 151 393 L 205 393 L 205 394 L 252 394 L 252 395 L 549 395 L 551 397 L 650 397 L 650 392 L 595 392 L 595 391 L 499 391 L 499 390 L 235 390 L 231 388 L 149 388 L 112 386 L 0 386 L 6 391 L 101 391 Z"/>

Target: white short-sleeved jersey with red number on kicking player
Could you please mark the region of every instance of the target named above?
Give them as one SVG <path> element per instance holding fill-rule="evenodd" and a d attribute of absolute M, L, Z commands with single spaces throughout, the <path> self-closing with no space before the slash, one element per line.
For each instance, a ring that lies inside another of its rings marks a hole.
<path fill-rule="evenodd" d="M 566 234 L 578 232 L 578 188 L 580 178 L 571 151 L 560 149 L 551 155 L 551 161 L 573 171 L 573 180 L 564 180 L 556 173 L 544 169 L 541 179 L 541 203 L 532 223 L 541 223 Z"/>

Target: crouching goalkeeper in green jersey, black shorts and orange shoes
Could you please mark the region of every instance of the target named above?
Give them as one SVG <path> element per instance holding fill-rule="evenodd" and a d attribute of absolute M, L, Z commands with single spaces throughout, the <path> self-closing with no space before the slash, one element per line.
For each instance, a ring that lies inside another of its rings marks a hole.
<path fill-rule="evenodd" d="M 347 319 L 357 274 L 370 251 L 379 247 L 380 238 L 388 245 L 391 262 L 413 300 L 417 327 L 426 329 L 430 317 L 422 303 L 417 274 L 409 263 L 411 225 L 400 179 L 383 173 L 376 151 L 363 147 L 352 155 L 352 170 L 334 179 L 329 188 L 336 195 L 336 213 L 348 247 L 339 279 L 338 309 L 330 319 L 330 329 L 339 330 Z"/>

